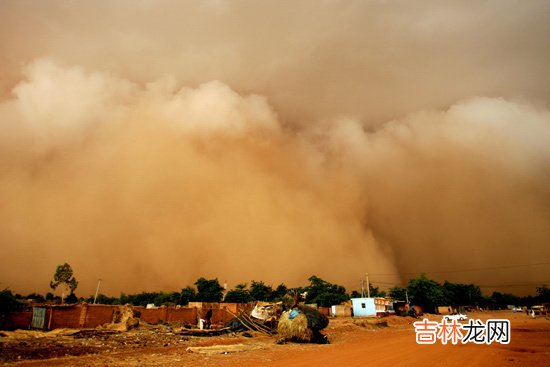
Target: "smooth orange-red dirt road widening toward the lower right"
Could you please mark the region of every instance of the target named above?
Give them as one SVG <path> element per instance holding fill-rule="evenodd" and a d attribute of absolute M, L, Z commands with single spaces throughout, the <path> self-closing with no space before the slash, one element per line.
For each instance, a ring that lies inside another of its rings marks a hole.
<path fill-rule="evenodd" d="M 229 335 L 192 339 L 175 346 L 119 348 L 110 352 L 47 360 L 9 362 L 13 366 L 550 366 L 550 320 L 510 311 L 471 313 L 470 318 L 510 319 L 510 344 L 418 345 L 413 320 L 387 326 L 360 319 L 336 319 L 326 332 L 329 345 L 277 345 L 273 338 Z M 441 316 L 430 319 L 440 321 Z M 226 347 L 224 347 L 226 346 Z"/>

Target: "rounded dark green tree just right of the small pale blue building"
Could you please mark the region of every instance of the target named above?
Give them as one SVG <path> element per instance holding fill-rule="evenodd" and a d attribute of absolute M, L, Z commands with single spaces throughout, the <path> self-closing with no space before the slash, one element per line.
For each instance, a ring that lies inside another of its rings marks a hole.
<path fill-rule="evenodd" d="M 437 306 L 448 304 L 443 286 L 435 280 L 428 279 L 426 274 L 409 280 L 407 292 L 411 303 L 421 306 L 424 312 L 435 312 Z"/>

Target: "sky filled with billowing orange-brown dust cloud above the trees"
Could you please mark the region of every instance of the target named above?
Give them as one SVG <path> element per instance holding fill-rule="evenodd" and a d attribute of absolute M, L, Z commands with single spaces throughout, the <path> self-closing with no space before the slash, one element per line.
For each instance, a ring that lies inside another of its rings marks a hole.
<path fill-rule="evenodd" d="M 550 283 L 547 1 L 0 1 L 0 288 Z"/>

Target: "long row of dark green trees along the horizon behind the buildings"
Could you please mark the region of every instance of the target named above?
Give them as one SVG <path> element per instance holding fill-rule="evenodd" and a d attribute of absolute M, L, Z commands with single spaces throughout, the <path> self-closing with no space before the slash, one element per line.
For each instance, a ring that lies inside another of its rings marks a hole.
<path fill-rule="evenodd" d="M 317 304 L 322 307 L 330 307 L 348 301 L 350 298 L 359 298 L 361 293 L 357 290 L 348 293 L 341 285 L 330 283 L 315 275 L 308 278 L 309 284 L 304 287 L 289 288 L 281 283 L 272 287 L 263 281 L 252 280 L 250 284 L 240 283 L 226 292 L 218 279 L 206 279 L 200 277 L 193 286 L 187 286 L 181 291 L 170 292 L 141 292 L 137 294 L 121 293 L 119 297 L 110 297 L 98 294 L 96 302 L 99 304 L 131 304 L 134 306 L 188 305 L 189 302 L 231 302 L 248 303 L 254 301 L 284 302 L 288 306 L 297 301 L 308 304 Z M 73 276 L 73 271 L 68 264 L 57 267 L 54 280 L 50 283 L 53 290 L 57 287 L 63 289 L 62 296 L 55 296 L 49 292 L 45 296 L 31 293 L 27 296 L 13 294 L 9 289 L 0 291 L 0 311 L 5 313 L 29 301 L 36 303 L 76 303 L 94 302 L 94 295 L 87 298 L 78 298 L 75 289 L 78 282 Z M 486 309 L 502 309 L 508 305 L 533 306 L 540 303 L 550 303 L 550 289 L 546 285 L 536 288 L 535 296 L 518 297 L 509 293 L 493 292 L 492 295 L 483 295 L 479 286 L 474 284 L 461 284 L 445 281 L 438 283 L 429 279 L 425 274 L 409 280 L 406 286 L 395 286 L 388 293 L 378 287 L 369 285 L 371 297 L 389 296 L 393 300 L 408 301 L 411 305 L 418 305 L 425 312 L 434 312 L 438 306 L 482 307 Z M 64 297 L 65 292 L 68 296 Z"/>

